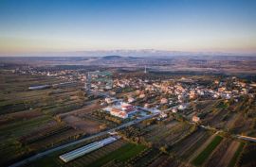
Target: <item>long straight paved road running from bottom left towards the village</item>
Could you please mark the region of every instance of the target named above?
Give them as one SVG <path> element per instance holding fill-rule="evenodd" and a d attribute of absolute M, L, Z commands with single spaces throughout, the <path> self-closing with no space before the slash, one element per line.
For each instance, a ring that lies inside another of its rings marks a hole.
<path fill-rule="evenodd" d="M 109 129 L 109 130 L 100 132 L 100 133 L 98 133 L 98 134 L 95 134 L 95 135 L 92 135 L 92 136 L 83 138 L 83 139 L 81 139 L 81 140 L 78 140 L 78 141 L 75 141 L 75 142 L 69 142 L 69 143 L 66 143 L 66 144 L 64 144 L 64 145 L 58 146 L 58 147 L 56 147 L 56 148 L 51 148 L 51 149 L 49 149 L 49 150 L 47 150 L 47 151 L 45 151 L 45 152 L 38 153 L 38 154 L 36 154 L 36 155 L 34 155 L 34 156 L 31 156 L 30 158 L 27 158 L 27 159 L 21 160 L 21 161 L 19 161 L 19 162 L 16 162 L 16 163 L 10 165 L 9 167 L 25 166 L 27 163 L 29 163 L 29 162 L 31 162 L 31 161 L 34 161 L 34 160 L 36 160 L 36 159 L 41 159 L 41 158 L 45 157 L 46 155 L 48 155 L 48 154 L 50 154 L 50 153 L 53 153 L 53 152 L 62 150 L 62 149 L 67 148 L 67 147 L 69 147 L 69 146 L 71 146 L 71 145 L 76 145 L 76 144 L 81 143 L 81 142 L 86 142 L 86 141 L 88 141 L 88 140 L 91 140 L 91 139 L 93 139 L 93 138 L 100 137 L 100 136 L 102 136 L 102 135 L 106 135 L 106 134 L 108 134 L 108 132 L 115 131 L 115 130 L 119 130 L 120 128 L 129 126 L 129 125 L 135 125 L 135 124 L 137 124 L 137 123 L 139 123 L 139 122 L 141 122 L 141 121 L 143 121 L 143 120 L 146 120 L 146 119 L 150 119 L 150 118 L 152 118 L 152 117 L 155 117 L 155 116 L 158 115 L 158 114 L 159 114 L 159 113 L 154 113 L 154 114 L 152 114 L 152 115 L 145 116 L 145 117 L 143 117 L 143 118 L 141 118 L 141 119 L 134 120 L 134 121 L 125 123 L 125 124 L 123 124 L 123 125 L 119 125 L 119 126 L 117 126 L 117 127 L 114 127 L 114 128 L 112 128 L 112 129 Z"/>

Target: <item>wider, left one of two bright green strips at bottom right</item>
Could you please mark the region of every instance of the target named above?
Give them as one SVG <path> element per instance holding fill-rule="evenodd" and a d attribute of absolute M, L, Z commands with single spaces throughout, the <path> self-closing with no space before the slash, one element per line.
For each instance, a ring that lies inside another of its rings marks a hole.
<path fill-rule="evenodd" d="M 209 158 L 210 153 L 214 150 L 214 148 L 223 140 L 222 137 L 216 136 L 210 144 L 195 158 L 192 160 L 192 164 L 195 166 L 200 166 L 204 163 L 206 159 Z"/>

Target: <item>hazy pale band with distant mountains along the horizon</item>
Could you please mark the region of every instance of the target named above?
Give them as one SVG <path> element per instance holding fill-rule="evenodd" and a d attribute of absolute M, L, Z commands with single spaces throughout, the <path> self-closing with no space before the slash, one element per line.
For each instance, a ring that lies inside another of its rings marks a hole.
<path fill-rule="evenodd" d="M 139 53 L 143 52 L 143 53 Z M 67 54 L 70 54 L 69 56 Z M 78 55 L 82 54 L 82 55 Z M 88 55 L 89 54 L 89 55 Z M 92 54 L 92 55 L 91 55 Z M 42 51 L 24 53 L 0 53 L 0 57 L 104 57 L 121 56 L 151 57 L 160 54 L 162 57 L 171 56 L 256 56 L 256 52 L 225 52 L 225 51 L 180 51 L 167 49 L 92 49 L 77 51 Z M 135 55 L 138 54 L 138 55 Z M 139 54 L 141 56 L 139 56 Z M 147 54 L 150 54 L 146 56 Z"/>

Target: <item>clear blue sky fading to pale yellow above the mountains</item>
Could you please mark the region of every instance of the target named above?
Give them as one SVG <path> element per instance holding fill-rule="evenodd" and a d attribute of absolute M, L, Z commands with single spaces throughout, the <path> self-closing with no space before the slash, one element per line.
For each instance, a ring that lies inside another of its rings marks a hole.
<path fill-rule="evenodd" d="M 255 0 L 0 0 L 0 56 L 114 49 L 256 53 Z"/>

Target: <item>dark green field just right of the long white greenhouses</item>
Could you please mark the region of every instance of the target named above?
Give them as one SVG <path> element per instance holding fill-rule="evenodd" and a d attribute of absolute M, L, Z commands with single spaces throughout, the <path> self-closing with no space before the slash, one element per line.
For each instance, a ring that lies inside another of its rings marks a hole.
<path fill-rule="evenodd" d="M 135 157 L 138 153 L 140 153 L 145 148 L 146 146 L 141 144 L 137 145 L 133 143 L 127 143 L 124 146 L 120 147 L 118 150 L 112 152 L 111 154 L 93 162 L 92 164 L 89 165 L 89 167 L 102 166 L 103 164 L 106 164 L 107 162 L 113 159 L 123 162 L 127 159 Z"/>

